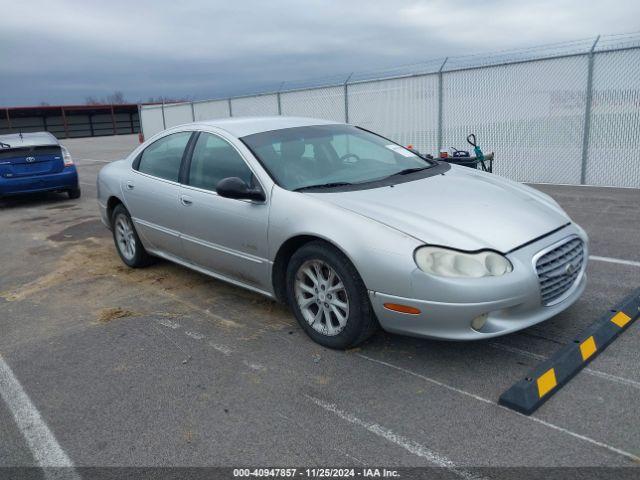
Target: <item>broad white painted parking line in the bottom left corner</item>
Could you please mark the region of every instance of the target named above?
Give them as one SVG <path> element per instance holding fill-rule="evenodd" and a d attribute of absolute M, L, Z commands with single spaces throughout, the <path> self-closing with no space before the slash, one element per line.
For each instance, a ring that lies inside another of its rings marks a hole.
<path fill-rule="evenodd" d="M 64 470 L 44 470 L 48 478 L 79 479 L 71 459 L 64 452 L 46 422 L 31 402 L 11 368 L 0 356 L 0 396 L 11 411 L 38 466 Z"/>

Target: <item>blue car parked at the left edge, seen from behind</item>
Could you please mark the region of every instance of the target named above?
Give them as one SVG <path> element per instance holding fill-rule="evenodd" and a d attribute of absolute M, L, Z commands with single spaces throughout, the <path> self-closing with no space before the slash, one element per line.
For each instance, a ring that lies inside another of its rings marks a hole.
<path fill-rule="evenodd" d="M 49 132 L 0 135 L 0 197 L 47 191 L 80 197 L 69 151 Z"/>

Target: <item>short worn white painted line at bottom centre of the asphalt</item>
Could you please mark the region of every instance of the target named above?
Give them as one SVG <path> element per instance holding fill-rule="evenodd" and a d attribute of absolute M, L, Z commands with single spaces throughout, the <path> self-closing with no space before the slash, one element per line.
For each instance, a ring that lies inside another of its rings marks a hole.
<path fill-rule="evenodd" d="M 424 445 L 414 442 L 413 440 L 410 440 L 401 435 L 398 435 L 397 433 L 381 425 L 378 425 L 377 423 L 372 423 L 372 422 L 367 422 L 366 420 L 362 420 L 356 417 L 355 415 L 353 415 L 352 413 L 341 410 L 333 403 L 325 402 L 323 400 L 320 400 L 319 398 L 315 398 L 306 394 L 305 394 L 305 397 L 307 397 L 309 400 L 311 400 L 313 403 L 315 403 L 319 407 L 325 409 L 327 412 L 333 413 L 337 417 L 343 420 L 346 420 L 349 423 L 358 425 L 359 427 L 362 427 L 365 430 L 368 430 L 374 435 L 377 435 L 388 442 L 394 443 L 400 448 L 403 448 L 406 451 L 413 453 L 414 455 L 417 455 L 418 457 L 422 457 L 428 460 L 429 462 L 433 463 L 434 465 L 437 465 L 438 467 L 446 468 L 447 470 L 451 471 L 452 473 L 455 473 L 456 475 L 462 478 L 466 478 L 466 479 L 482 478 L 482 477 L 477 477 L 471 474 L 470 472 L 466 472 L 464 470 L 459 469 L 451 460 L 449 460 L 444 455 L 436 453 L 433 450 L 425 447 Z"/>

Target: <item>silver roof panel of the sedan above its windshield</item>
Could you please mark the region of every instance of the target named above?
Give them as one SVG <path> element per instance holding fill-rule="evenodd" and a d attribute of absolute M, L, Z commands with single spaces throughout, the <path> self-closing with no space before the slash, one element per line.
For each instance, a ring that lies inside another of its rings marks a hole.
<path fill-rule="evenodd" d="M 281 130 L 283 128 L 307 127 L 310 125 L 335 125 L 340 122 L 306 117 L 233 117 L 196 122 L 195 125 L 221 128 L 235 137 L 254 133 Z"/>

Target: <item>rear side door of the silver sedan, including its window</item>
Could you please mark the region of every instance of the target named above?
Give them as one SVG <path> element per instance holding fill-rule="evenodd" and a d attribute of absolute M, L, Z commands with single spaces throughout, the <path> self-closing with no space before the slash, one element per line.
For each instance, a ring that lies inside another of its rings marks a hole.
<path fill-rule="evenodd" d="M 150 250 L 182 256 L 180 242 L 180 168 L 193 132 L 162 137 L 145 148 L 123 181 L 127 208 Z"/>

